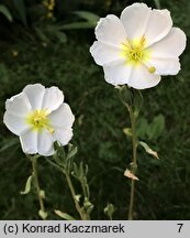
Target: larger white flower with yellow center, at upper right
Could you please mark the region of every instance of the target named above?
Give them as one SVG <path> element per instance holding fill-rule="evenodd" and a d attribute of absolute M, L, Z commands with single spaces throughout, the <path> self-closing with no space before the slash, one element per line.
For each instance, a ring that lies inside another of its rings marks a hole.
<path fill-rule="evenodd" d="M 160 82 L 160 75 L 180 71 L 178 56 L 186 47 L 186 35 L 172 28 L 168 10 L 134 3 L 120 19 L 113 14 L 100 19 L 96 36 L 90 53 L 112 85 L 149 88 Z"/>

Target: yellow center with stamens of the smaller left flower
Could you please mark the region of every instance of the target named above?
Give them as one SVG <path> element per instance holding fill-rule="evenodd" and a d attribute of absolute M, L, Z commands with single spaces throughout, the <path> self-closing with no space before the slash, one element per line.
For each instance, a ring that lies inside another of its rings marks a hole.
<path fill-rule="evenodd" d="M 51 121 L 47 118 L 48 112 L 45 109 L 34 110 L 26 117 L 26 122 L 32 127 L 33 130 L 41 132 L 46 129 L 49 133 L 54 132 Z"/>

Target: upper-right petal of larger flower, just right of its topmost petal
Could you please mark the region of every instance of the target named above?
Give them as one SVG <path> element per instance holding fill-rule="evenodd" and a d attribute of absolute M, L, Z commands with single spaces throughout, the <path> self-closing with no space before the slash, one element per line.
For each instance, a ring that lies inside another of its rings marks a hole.
<path fill-rule="evenodd" d="M 172 20 L 168 10 L 153 10 L 145 30 L 147 46 L 165 37 L 172 26 Z"/>

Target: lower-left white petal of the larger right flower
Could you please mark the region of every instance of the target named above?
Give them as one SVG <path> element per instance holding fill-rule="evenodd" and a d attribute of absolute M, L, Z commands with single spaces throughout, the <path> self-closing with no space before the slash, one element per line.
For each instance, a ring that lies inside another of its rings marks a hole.
<path fill-rule="evenodd" d="M 103 65 L 105 80 L 114 86 L 127 84 L 131 77 L 132 67 L 133 66 L 126 64 L 126 61 L 124 60 Z"/>

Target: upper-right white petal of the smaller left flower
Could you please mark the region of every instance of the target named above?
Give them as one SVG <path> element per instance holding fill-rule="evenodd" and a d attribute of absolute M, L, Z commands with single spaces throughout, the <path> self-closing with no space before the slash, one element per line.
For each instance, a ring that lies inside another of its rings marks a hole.
<path fill-rule="evenodd" d="M 64 101 L 63 91 L 57 87 L 51 87 L 45 89 L 42 109 L 48 109 L 48 112 L 56 110 Z"/>

